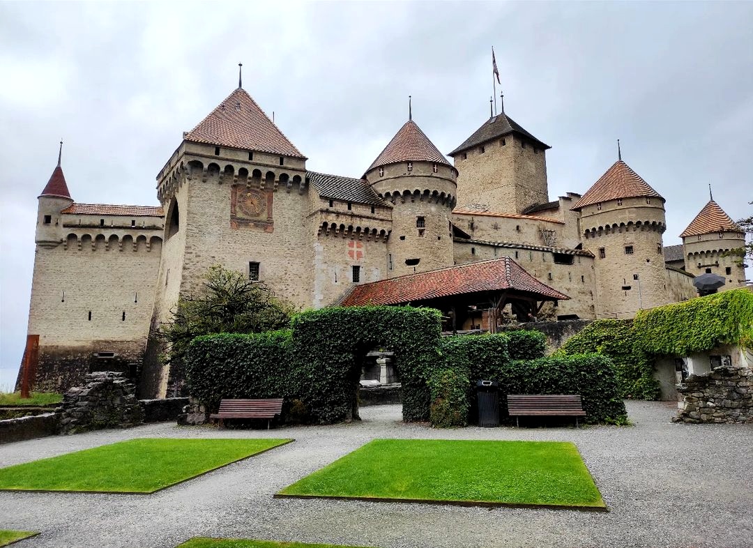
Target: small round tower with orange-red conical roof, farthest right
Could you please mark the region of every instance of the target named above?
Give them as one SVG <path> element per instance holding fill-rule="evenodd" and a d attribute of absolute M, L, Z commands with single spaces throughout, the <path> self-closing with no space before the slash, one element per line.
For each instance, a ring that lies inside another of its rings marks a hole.
<path fill-rule="evenodd" d="M 713 196 L 696 218 L 680 234 L 685 269 L 696 276 L 709 272 L 724 276 L 721 291 L 745 285 L 745 269 L 735 256 L 724 256 L 730 249 L 745 245 L 745 232 L 724 212 Z"/>

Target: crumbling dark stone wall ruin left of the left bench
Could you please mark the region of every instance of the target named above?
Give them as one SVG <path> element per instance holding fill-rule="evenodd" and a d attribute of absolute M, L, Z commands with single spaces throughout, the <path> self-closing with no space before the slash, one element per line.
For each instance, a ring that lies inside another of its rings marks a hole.
<path fill-rule="evenodd" d="M 63 397 L 61 433 L 140 425 L 144 412 L 135 391 L 136 386 L 123 373 L 90 373 L 83 388 L 71 388 Z"/>

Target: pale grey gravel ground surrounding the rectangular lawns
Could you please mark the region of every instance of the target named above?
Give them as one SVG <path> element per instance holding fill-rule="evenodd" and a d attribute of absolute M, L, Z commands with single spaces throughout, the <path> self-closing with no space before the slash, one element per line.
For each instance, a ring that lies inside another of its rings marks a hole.
<path fill-rule="evenodd" d="M 133 437 L 296 439 L 154 495 L 0 492 L 0 528 L 41 531 L 19 548 L 172 548 L 194 536 L 382 548 L 751 548 L 753 425 L 672 424 L 668 403 L 627 408 L 633 427 L 434 430 L 402 424 L 400 406 L 370 406 L 350 425 L 218 431 L 162 423 L 10 443 L 0 446 L 0 466 Z M 610 512 L 272 498 L 377 437 L 572 441 Z"/>

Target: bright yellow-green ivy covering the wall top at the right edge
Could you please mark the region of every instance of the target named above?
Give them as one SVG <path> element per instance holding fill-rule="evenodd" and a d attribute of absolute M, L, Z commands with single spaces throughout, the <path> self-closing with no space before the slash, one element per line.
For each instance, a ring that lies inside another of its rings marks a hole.
<path fill-rule="evenodd" d="M 753 293 L 735 289 L 640 310 L 635 328 L 655 355 L 687 356 L 722 344 L 753 346 Z"/>

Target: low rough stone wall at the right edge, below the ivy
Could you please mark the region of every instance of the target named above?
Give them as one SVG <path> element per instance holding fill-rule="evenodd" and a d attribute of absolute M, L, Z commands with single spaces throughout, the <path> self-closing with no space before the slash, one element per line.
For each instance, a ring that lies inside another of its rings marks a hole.
<path fill-rule="evenodd" d="M 677 386 L 682 396 L 673 422 L 753 422 L 753 370 L 715 367 Z"/>

